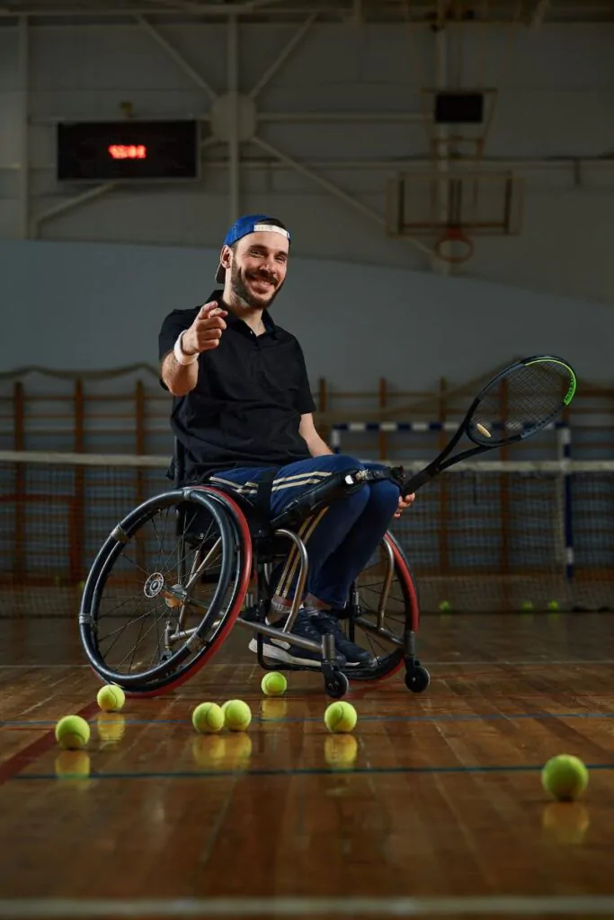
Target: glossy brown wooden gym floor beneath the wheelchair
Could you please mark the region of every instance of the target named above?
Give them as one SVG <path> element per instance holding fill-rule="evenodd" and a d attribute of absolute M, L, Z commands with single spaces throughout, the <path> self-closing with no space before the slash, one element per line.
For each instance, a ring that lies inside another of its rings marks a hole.
<path fill-rule="evenodd" d="M 318 675 L 265 699 L 248 638 L 104 716 L 73 623 L 0 620 L 1 917 L 614 917 L 613 616 L 425 617 L 429 690 L 354 685 L 351 736 Z M 230 697 L 249 731 L 196 735 Z M 87 753 L 55 745 L 71 712 Z M 542 792 L 555 753 L 581 801 Z"/>

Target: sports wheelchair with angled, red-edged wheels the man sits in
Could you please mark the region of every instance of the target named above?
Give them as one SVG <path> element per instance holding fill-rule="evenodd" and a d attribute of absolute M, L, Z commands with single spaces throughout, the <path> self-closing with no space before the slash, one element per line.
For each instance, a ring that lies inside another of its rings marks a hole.
<path fill-rule="evenodd" d="M 333 474 L 325 485 L 295 500 L 271 519 L 272 478 L 262 478 L 255 500 L 231 489 L 185 484 L 183 452 L 175 442 L 174 486 L 145 500 L 117 523 L 89 570 L 79 609 L 87 659 L 106 683 L 132 696 L 159 696 L 180 686 L 211 661 L 237 626 L 265 670 L 318 670 L 326 693 L 344 696 L 353 681 L 377 681 L 405 668 L 405 684 L 422 693 L 430 682 L 416 657 L 418 596 L 399 542 L 387 533 L 352 585 L 342 627 L 370 647 L 373 663 L 342 663 L 330 635 L 321 646 L 292 636 L 295 647 L 319 655 L 313 667 L 266 658 L 263 638 L 288 641 L 307 579 L 307 549 L 300 525 L 367 471 Z M 269 471 L 268 471 L 269 472 Z M 335 478 L 336 477 L 336 478 Z M 294 551 L 295 600 L 283 624 L 267 615 L 275 569 Z"/>

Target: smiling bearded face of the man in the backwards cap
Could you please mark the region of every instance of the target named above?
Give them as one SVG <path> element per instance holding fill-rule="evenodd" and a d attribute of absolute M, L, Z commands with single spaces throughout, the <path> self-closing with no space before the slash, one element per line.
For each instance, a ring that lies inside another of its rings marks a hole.
<path fill-rule="evenodd" d="M 268 230 L 239 239 L 230 252 L 230 287 L 246 306 L 272 305 L 284 283 L 288 247 L 285 236 Z"/>

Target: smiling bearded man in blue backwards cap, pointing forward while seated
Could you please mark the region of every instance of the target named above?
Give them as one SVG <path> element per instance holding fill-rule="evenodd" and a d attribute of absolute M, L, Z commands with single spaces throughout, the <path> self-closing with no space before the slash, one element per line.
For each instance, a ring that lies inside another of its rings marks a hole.
<path fill-rule="evenodd" d="M 174 310 L 159 335 L 161 378 L 174 397 L 171 427 L 184 448 L 186 480 L 206 479 L 253 500 L 260 477 L 274 474 L 272 515 L 331 475 L 364 466 L 332 454 L 319 437 L 303 351 L 272 320 L 290 243 L 276 218 L 241 217 L 220 253 L 215 281 L 223 289 L 203 306 Z M 412 500 L 400 500 L 399 487 L 381 479 L 303 524 L 309 570 L 296 635 L 320 642 L 331 633 L 347 665 L 369 664 L 370 653 L 346 638 L 339 616 L 391 518 Z M 276 573 L 270 619 L 291 604 L 296 576 L 293 550 Z M 255 639 L 249 647 L 256 650 Z M 319 656 L 289 642 L 267 638 L 265 651 L 276 661 L 319 665 Z"/>

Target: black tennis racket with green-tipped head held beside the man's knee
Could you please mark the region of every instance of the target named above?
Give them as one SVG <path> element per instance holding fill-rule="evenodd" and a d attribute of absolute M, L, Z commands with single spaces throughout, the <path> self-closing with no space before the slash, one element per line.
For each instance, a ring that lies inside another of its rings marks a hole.
<path fill-rule="evenodd" d="M 421 489 L 461 460 L 530 438 L 569 406 L 575 387 L 573 368 L 562 358 L 539 355 L 511 364 L 481 389 L 441 454 L 406 478 L 401 494 L 405 497 Z M 463 435 L 476 446 L 450 456 Z"/>

